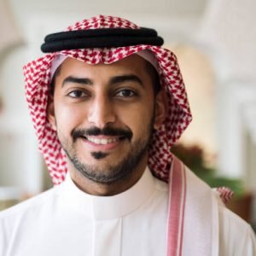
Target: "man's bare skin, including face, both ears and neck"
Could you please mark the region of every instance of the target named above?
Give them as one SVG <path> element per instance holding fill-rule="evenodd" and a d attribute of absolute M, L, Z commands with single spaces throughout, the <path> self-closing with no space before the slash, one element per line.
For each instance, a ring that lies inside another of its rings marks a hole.
<path fill-rule="evenodd" d="M 138 55 L 108 65 L 71 58 L 61 64 L 48 119 L 67 153 L 73 182 L 84 192 L 116 195 L 143 175 L 151 133 L 166 109 L 147 65 Z"/>

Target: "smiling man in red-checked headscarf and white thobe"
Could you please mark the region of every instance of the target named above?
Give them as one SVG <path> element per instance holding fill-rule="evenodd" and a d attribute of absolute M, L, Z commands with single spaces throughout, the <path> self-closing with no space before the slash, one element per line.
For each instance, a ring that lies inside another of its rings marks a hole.
<path fill-rule="evenodd" d="M 45 38 L 24 73 L 56 186 L 1 213 L 1 255 L 255 255 L 249 225 L 170 153 L 191 114 L 161 44 L 102 15 Z"/>

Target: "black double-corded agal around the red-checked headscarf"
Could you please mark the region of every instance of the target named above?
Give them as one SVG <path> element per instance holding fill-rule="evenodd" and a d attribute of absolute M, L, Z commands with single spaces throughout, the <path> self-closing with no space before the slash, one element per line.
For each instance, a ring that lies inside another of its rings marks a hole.
<path fill-rule="evenodd" d="M 41 49 L 44 53 L 63 49 L 122 47 L 138 44 L 161 46 L 163 38 L 151 28 L 100 28 L 49 34 Z"/>

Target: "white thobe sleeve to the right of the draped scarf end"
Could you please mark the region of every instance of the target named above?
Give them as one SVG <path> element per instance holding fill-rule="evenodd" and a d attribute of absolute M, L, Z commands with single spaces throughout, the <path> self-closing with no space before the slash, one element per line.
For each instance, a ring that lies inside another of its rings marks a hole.
<path fill-rule="evenodd" d="M 249 224 L 219 207 L 219 256 L 256 256 L 255 234 Z"/>

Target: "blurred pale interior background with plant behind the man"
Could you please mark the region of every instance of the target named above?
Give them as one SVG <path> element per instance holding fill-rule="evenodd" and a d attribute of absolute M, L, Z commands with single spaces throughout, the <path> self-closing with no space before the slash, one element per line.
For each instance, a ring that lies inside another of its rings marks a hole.
<path fill-rule="evenodd" d="M 154 27 L 177 55 L 194 120 L 172 150 L 230 208 L 256 223 L 254 0 L 0 0 L 0 209 L 51 187 L 24 96 L 22 66 L 50 32 L 94 15 Z"/>

